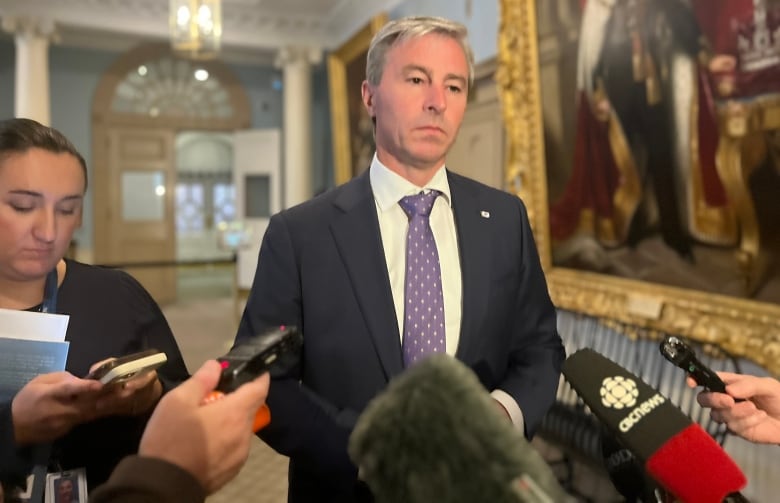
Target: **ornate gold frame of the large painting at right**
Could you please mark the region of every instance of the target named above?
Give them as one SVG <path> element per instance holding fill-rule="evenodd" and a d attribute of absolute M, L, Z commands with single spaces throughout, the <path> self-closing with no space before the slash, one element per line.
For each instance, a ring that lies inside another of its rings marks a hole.
<path fill-rule="evenodd" d="M 716 344 L 780 375 L 778 304 L 554 266 L 537 0 L 500 2 L 496 81 L 508 136 L 506 183 L 528 207 L 554 303 L 624 327 Z"/>

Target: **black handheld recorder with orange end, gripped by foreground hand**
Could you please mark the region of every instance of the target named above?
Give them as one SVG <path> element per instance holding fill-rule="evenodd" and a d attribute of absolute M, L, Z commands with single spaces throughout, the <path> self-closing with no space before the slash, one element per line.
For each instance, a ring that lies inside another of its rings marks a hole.
<path fill-rule="evenodd" d="M 217 358 L 222 374 L 206 403 L 238 389 L 263 372 L 297 364 L 303 336 L 296 327 L 280 326 L 241 341 L 225 356 Z M 258 432 L 271 422 L 271 411 L 263 405 L 255 413 L 252 431 Z"/>

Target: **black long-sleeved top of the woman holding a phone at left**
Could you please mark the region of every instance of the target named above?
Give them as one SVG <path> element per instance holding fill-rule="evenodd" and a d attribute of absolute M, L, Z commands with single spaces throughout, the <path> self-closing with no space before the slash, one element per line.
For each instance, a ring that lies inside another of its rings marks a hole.
<path fill-rule="evenodd" d="M 138 281 L 120 270 L 66 263 L 57 298 L 57 313 L 70 315 L 65 370 L 84 377 L 95 362 L 155 348 L 168 357 L 157 370 L 163 393 L 189 377 L 168 322 Z M 123 457 L 138 450 L 152 409 L 140 416 L 106 417 L 76 426 L 53 443 L 50 470 L 84 467 L 90 488 L 105 482 Z M 30 473 L 32 451 L 15 444 L 11 403 L 0 403 L 0 478 Z"/>

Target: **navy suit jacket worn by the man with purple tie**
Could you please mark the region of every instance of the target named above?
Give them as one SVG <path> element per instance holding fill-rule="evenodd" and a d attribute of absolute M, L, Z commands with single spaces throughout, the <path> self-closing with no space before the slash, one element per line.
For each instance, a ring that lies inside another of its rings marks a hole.
<path fill-rule="evenodd" d="M 553 403 L 564 350 L 520 199 L 447 173 L 463 282 L 456 357 L 509 393 L 530 437 Z M 361 500 L 347 442 L 403 371 L 368 172 L 271 218 L 236 342 L 298 325 L 300 366 L 272 380 L 260 437 L 290 457 L 290 501 Z"/>

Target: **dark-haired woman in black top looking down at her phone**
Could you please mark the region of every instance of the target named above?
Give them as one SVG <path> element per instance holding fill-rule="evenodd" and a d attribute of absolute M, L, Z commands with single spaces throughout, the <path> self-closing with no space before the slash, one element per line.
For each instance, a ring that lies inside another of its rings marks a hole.
<path fill-rule="evenodd" d="M 4 482 L 48 465 L 85 468 L 88 486 L 97 486 L 137 451 L 162 394 L 188 377 L 159 306 L 135 279 L 63 258 L 86 187 L 84 158 L 60 132 L 0 121 L 0 308 L 70 317 L 65 371 L 39 375 L 0 402 Z M 157 372 L 121 385 L 84 379 L 102 361 L 146 348 L 167 355 Z"/>

